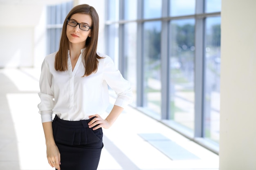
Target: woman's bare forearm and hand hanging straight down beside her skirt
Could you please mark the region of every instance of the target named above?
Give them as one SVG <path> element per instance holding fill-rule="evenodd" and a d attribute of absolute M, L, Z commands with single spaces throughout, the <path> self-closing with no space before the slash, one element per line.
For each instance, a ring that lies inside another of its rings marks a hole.
<path fill-rule="evenodd" d="M 43 130 L 45 133 L 45 144 L 48 163 L 50 164 L 50 166 L 55 167 L 58 170 L 61 170 L 61 154 L 54 141 L 52 132 L 52 121 L 44 122 Z"/>

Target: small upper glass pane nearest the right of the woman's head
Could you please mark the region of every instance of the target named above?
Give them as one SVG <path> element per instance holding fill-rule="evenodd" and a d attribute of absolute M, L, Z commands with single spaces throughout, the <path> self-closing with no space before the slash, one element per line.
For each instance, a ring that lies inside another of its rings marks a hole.
<path fill-rule="evenodd" d="M 119 1 L 108 0 L 108 15 L 106 20 L 117 21 L 119 20 Z"/>

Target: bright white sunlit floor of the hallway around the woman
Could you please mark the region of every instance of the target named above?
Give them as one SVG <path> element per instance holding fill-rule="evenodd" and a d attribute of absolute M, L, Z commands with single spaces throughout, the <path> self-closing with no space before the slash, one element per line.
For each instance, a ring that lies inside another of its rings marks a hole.
<path fill-rule="evenodd" d="M 53 170 L 37 108 L 39 76 L 40 68 L 0 69 L 0 170 Z M 103 133 L 98 170 L 219 167 L 218 155 L 130 106 Z"/>

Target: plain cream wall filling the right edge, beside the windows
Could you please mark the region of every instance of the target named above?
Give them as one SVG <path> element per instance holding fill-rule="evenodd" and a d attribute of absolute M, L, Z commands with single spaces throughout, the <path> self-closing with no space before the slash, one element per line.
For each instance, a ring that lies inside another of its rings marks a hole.
<path fill-rule="evenodd" d="M 222 0 L 220 170 L 256 170 L 255 9 L 255 0 Z"/>

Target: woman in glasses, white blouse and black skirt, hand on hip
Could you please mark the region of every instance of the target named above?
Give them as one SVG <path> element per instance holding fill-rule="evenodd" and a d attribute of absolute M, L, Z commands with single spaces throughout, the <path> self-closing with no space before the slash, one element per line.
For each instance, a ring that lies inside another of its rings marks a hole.
<path fill-rule="evenodd" d="M 110 128 L 132 102 L 129 82 L 109 56 L 96 51 L 98 32 L 95 9 L 88 4 L 74 7 L 64 21 L 59 50 L 42 64 L 38 108 L 48 163 L 58 170 L 97 170 L 101 128 Z M 109 104 L 108 85 L 117 99 L 102 119 Z"/>

